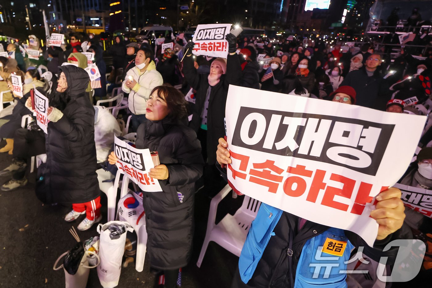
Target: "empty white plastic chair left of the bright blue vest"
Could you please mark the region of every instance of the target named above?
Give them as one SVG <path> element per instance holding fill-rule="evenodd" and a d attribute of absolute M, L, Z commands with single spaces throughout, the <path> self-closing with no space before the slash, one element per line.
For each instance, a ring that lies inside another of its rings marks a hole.
<path fill-rule="evenodd" d="M 240 256 L 251 223 L 257 216 L 261 202 L 245 195 L 243 204 L 234 216 L 227 214 L 218 224 L 215 224 L 217 206 L 229 192 L 231 192 L 231 187 L 227 184 L 210 202 L 206 237 L 197 261 L 198 267 L 203 262 L 210 241 L 214 241 L 234 255 Z"/>

